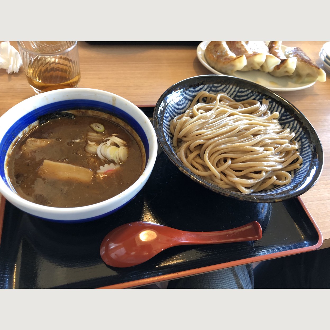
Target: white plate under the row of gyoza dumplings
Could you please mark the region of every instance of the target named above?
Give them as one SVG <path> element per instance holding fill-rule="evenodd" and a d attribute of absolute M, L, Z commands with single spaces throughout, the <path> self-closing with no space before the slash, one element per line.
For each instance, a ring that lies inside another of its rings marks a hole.
<path fill-rule="evenodd" d="M 221 72 L 216 71 L 213 69 L 206 61 L 204 52 L 206 46 L 210 43 L 210 41 L 202 41 L 197 46 L 197 58 L 199 61 L 211 72 L 221 75 L 221 76 L 228 76 Z M 282 50 L 286 49 L 287 47 L 282 45 Z M 300 90 L 304 88 L 308 88 L 314 85 L 315 82 L 312 83 L 295 83 L 288 77 L 274 77 L 267 72 L 263 72 L 260 70 L 252 70 L 252 71 L 235 71 L 232 77 L 246 79 L 250 82 L 255 82 L 259 85 L 262 85 L 266 88 L 269 88 L 273 91 L 281 91 L 281 92 L 289 92 L 293 90 Z"/>

